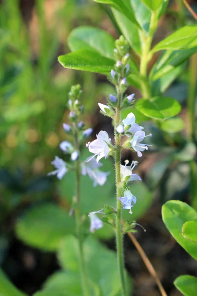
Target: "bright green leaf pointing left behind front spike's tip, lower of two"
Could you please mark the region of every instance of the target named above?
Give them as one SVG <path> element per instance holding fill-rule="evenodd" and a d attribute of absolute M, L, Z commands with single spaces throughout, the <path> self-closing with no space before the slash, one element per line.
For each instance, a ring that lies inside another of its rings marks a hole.
<path fill-rule="evenodd" d="M 109 73 L 115 63 L 112 59 L 84 49 L 59 56 L 58 61 L 63 67 L 68 69 L 95 73 Z"/>

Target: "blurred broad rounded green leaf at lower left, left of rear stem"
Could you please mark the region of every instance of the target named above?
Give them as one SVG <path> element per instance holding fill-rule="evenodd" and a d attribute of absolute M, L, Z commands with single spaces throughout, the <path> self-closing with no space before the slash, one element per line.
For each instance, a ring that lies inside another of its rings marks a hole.
<path fill-rule="evenodd" d="M 16 234 L 22 241 L 45 251 L 55 251 L 60 239 L 73 232 L 73 218 L 56 204 L 36 206 L 16 223 Z"/>

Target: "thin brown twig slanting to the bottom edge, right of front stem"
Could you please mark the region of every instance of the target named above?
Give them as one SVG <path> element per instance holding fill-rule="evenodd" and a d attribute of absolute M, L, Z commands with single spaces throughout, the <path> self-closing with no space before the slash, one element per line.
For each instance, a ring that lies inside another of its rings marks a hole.
<path fill-rule="evenodd" d="M 122 220 L 122 224 L 124 224 L 124 221 Z M 142 249 L 142 247 L 140 246 L 140 244 L 138 243 L 138 241 L 136 240 L 136 238 L 134 237 L 134 235 L 132 235 L 131 232 L 127 233 L 133 243 L 133 245 L 135 246 L 135 248 L 137 249 L 139 255 L 141 256 L 142 260 L 144 261 L 144 264 L 146 265 L 148 271 L 150 272 L 151 276 L 155 279 L 157 286 L 161 292 L 162 296 L 167 296 L 167 294 L 165 293 L 164 287 L 162 286 L 162 283 L 159 279 L 159 276 L 157 275 L 157 272 L 155 271 L 155 268 L 153 267 L 153 265 L 151 264 L 150 260 L 148 259 L 148 257 L 146 256 L 146 254 L 144 253 L 144 250 Z"/>

